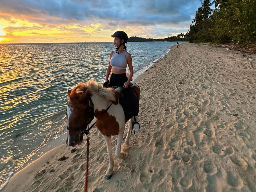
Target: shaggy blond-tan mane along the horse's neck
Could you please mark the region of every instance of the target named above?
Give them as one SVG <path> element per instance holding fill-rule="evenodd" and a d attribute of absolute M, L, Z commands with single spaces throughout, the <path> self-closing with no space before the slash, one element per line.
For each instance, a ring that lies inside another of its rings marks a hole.
<path fill-rule="evenodd" d="M 116 101 L 116 91 L 121 92 L 120 88 L 103 88 L 102 85 L 96 83 L 94 79 L 90 79 L 86 83 L 79 83 L 74 89 L 76 94 L 82 94 L 88 90 L 91 94 L 97 94 L 110 101 Z M 73 92 L 72 90 L 72 92 Z M 72 94 L 71 92 L 71 94 Z"/>

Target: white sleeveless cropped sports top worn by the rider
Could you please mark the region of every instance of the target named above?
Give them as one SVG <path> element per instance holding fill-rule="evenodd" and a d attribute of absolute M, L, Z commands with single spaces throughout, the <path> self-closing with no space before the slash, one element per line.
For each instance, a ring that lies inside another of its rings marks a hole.
<path fill-rule="evenodd" d="M 112 55 L 110 59 L 110 65 L 114 69 L 126 69 L 127 67 L 127 60 L 125 58 L 127 51 L 124 51 L 120 54 L 118 54 L 116 51 L 114 51 L 114 54 Z"/>

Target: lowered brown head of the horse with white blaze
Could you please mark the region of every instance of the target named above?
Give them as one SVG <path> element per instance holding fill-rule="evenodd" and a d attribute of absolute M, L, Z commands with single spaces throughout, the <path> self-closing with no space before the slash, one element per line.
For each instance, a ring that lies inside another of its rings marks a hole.
<path fill-rule="evenodd" d="M 68 118 L 68 137 L 66 144 L 75 146 L 83 140 L 83 131 L 94 118 L 91 93 L 85 84 L 80 83 L 68 90 L 69 102 L 66 110 Z"/>

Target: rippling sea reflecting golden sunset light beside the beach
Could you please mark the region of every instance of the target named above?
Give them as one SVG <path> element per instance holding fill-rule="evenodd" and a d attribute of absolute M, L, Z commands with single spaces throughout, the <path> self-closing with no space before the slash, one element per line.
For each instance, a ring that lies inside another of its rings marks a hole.
<path fill-rule="evenodd" d="M 175 44 L 128 43 L 133 78 Z M 67 90 L 91 78 L 103 83 L 112 50 L 113 43 L 0 44 L 0 190 L 66 133 Z"/>

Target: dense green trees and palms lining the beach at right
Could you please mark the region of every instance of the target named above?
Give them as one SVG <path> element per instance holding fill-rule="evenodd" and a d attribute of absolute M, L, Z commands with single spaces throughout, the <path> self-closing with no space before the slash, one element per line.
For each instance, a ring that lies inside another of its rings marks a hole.
<path fill-rule="evenodd" d="M 189 42 L 255 44 L 256 0 L 204 0 L 201 4 L 186 34 Z"/>

